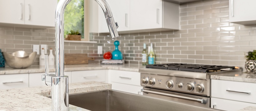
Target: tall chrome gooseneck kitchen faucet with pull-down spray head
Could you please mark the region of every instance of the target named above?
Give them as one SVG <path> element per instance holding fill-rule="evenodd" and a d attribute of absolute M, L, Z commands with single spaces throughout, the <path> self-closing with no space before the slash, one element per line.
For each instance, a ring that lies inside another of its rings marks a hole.
<path fill-rule="evenodd" d="M 55 11 L 55 60 L 56 74 L 49 74 L 48 56 L 45 56 L 45 75 L 42 82 L 52 87 L 52 111 L 68 111 L 68 76 L 64 76 L 64 11 L 71 0 L 60 0 Z M 111 38 L 118 37 L 118 25 L 114 21 L 106 0 L 94 0 L 104 11 Z"/>

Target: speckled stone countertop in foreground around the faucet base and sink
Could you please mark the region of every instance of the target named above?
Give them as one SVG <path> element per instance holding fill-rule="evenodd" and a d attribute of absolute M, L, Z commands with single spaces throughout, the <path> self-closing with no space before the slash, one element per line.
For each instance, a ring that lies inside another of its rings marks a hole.
<path fill-rule="evenodd" d="M 69 94 L 111 89 L 104 82 L 79 82 L 69 84 Z M 51 111 L 51 87 L 29 87 L 0 90 L 0 111 Z M 69 111 L 89 111 L 69 104 Z"/>

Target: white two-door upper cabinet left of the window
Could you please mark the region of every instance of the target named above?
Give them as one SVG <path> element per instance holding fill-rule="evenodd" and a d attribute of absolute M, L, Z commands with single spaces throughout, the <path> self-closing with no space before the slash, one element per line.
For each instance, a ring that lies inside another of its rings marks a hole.
<path fill-rule="evenodd" d="M 56 6 L 57 0 L 0 0 L 0 23 L 54 27 Z"/>

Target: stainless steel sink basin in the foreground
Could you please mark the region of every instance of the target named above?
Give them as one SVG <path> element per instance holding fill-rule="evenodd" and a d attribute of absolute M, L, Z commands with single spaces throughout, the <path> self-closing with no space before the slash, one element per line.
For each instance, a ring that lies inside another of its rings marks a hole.
<path fill-rule="evenodd" d="M 72 94 L 69 104 L 91 111 L 223 111 L 116 90 Z"/>

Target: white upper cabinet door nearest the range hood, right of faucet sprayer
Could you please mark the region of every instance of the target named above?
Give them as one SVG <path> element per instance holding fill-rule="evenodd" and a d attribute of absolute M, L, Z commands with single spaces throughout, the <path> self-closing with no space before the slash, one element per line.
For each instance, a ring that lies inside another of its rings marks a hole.
<path fill-rule="evenodd" d="M 130 0 L 130 30 L 162 28 L 162 0 Z"/>

